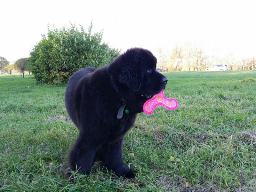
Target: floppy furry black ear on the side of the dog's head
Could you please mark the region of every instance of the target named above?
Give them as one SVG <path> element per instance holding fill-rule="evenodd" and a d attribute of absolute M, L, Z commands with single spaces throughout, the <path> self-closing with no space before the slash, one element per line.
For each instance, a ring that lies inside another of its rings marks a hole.
<path fill-rule="evenodd" d="M 125 63 L 119 76 L 119 82 L 128 86 L 133 92 L 140 89 L 142 75 L 141 75 L 141 60 L 142 54 L 139 49 L 129 50 L 125 55 Z"/>

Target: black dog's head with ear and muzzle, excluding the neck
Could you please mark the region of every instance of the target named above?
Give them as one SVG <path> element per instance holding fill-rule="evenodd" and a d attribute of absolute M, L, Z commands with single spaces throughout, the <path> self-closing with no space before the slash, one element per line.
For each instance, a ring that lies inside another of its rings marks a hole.
<path fill-rule="evenodd" d="M 156 71 L 156 57 L 150 51 L 132 48 L 124 52 L 122 58 L 120 84 L 146 98 L 165 88 L 168 78 Z"/>

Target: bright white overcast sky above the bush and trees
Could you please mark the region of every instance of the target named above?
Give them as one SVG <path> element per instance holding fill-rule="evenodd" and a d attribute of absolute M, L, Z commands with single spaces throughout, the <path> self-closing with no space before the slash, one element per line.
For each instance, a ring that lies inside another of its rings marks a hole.
<path fill-rule="evenodd" d="M 121 49 L 142 47 L 157 54 L 175 44 L 199 44 L 206 54 L 256 57 L 253 1 L 230 0 L 44 0 L 0 2 L 0 56 L 29 57 L 50 29 L 76 23 L 103 30 L 102 43 Z"/>

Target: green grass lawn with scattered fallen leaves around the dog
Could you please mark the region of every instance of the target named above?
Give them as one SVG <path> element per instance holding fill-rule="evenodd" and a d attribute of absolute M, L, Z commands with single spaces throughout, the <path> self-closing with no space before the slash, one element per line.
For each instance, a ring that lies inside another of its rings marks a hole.
<path fill-rule="evenodd" d="M 78 134 L 65 110 L 66 87 L 1 75 L 0 191 L 235 191 L 255 179 L 256 71 L 164 75 L 165 95 L 179 107 L 139 114 L 125 136 L 124 163 L 136 179 L 96 163 L 74 183 L 64 177 Z"/>

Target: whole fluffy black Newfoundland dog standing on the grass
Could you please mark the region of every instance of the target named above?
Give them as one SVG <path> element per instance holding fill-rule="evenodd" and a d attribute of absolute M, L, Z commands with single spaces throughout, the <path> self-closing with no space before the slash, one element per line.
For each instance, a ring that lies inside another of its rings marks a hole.
<path fill-rule="evenodd" d="M 135 177 L 136 171 L 123 163 L 124 135 L 145 101 L 164 89 L 167 81 L 156 71 L 156 57 L 142 48 L 129 49 L 102 68 L 76 71 L 65 94 L 68 114 L 79 129 L 68 155 L 69 170 L 89 174 L 100 160 L 119 176 Z"/>

